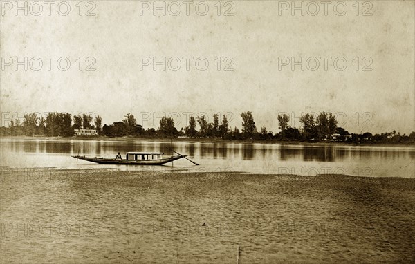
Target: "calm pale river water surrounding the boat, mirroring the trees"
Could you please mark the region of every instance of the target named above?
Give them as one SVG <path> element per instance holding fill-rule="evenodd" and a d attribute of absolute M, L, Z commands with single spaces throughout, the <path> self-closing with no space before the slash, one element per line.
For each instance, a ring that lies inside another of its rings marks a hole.
<path fill-rule="evenodd" d="M 367 177 L 415 178 L 414 147 L 357 147 L 333 144 L 261 144 L 261 143 L 210 143 L 138 142 L 104 140 L 46 140 L 1 138 L 2 168 L 117 168 L 121 170 L 183 170 L 183 171 L 244 171 L 248 173 L 291 173 L 313 176 L 324 173 L 341 173 Z M 71 155 L 113 157 L 127 151 L 164 152 L 173 148 L 199 163 L 194 166 L 187 160 L 175 161 L 160 167 L 102 165 L 77 161 Z"/>

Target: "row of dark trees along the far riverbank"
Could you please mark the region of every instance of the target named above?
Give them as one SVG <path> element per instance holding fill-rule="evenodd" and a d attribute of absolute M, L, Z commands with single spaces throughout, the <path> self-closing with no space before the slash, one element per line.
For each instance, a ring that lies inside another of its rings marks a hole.
<path fill-rule="evenodd" d="M 213 122 L 207 117 L 190 116 L 185 128 L 178 131 L 172 117 L 162 117 L 159 126 L 144 129 L 137 123 L 136 117 L 127 113 L 124 119 L 113 124 L 102 126 L 102 117 L 92 115 L 72 115 L 70 113 L 48 113 L 46 118 L 37 113 L 26 113 L 23 122 L 19 119 L 10 121 L 8 127 L 1 126 L 1 135 L 44 135 L 44 136 L 73 136 L 74 129 L 96 129 L 100 135 L 109 137 L 144 137 L 144 138 L 223 138 L 225 140 L 277 140 L 277 141 L 311 141 L 322 140 L 342 142 L 371 142 L 371 143 L 405 143 L 415 142 L 415 132 L 400 135 L 396 131 L 372 135 L 366 133 L 349 133 L 338 127 L 338 120 L 332 113 L 322 112 L 319 115 L 305 113 L 299 118 L 300 129 L 290 126 L 290 117 L 286 114 L 277 115 L 279 133 L 268 131 L 261 126 L 259 131 L 250 111 L 241 113 L 241 130 L 236 126 L 232 129 L 225 115 L 219 121 L 219 115 L 213 115 Z M 199 130 L 196 126 L 199 125 Z"/>

